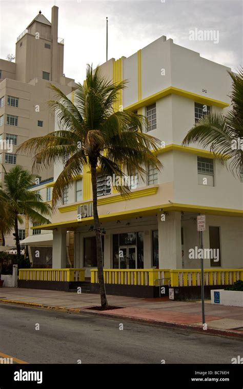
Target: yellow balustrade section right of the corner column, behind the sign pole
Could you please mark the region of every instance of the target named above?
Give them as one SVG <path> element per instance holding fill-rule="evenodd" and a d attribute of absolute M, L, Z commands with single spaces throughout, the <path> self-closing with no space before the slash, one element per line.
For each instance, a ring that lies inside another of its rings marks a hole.
<path fill-rule="evenodd" d="M 200 286 L 200 269 L 170 270 L 171 286 Z M 243 280 L 243 269 L 204 269 L 205 285 L 232 285 Z"/>

